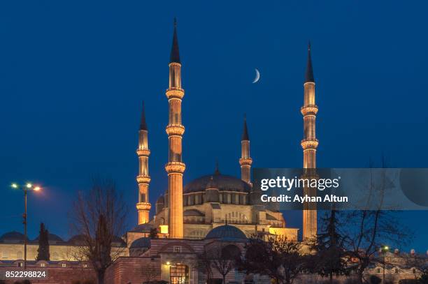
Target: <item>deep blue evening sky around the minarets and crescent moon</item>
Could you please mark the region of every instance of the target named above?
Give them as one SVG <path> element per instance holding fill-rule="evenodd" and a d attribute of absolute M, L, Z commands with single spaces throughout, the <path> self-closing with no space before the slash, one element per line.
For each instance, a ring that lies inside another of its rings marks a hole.
<path fill-rule="evenodd" d="M 426 1 L 2 1 L 1 232 L 22 230 L 22 195 L 8 186 L 28 180 L 44 187 L 29 197 L 30 237 L 43 221 L 68 238 L 71 200 L 93 174 L 117 181 L 134 225 L 142 100 L 155 204 L 167 186 L 174 16 L 185 181 L 213 172 L 216 159 L 238 176 L 245 112 L 255 166 L 301 167 L 308 40 L 318 166 L 365 167 L 384 154 L 392 167 L 428 167 L 427 14 Z M 261 79 L 251 84 L 255 68 Z M 300 214 L 285 218 L 301 225 Z M 428 248 L 427 218 L 402 218 L 417 251 Z"/>

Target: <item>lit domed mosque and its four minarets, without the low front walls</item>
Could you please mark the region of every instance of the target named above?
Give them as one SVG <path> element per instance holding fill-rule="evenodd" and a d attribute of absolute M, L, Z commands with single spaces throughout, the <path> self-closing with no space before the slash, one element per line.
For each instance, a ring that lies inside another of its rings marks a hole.
<path fill-rule="evenodd" d="M 283 214 L 274 206 L 260 201 L 261 193 L 252 186 L 250 156 L 250 135 L 247 122 L 243 122 L 241 138 L 241 178 L 220 173 L 218 167 L 211 174 L 199 177 L 183 186 L 185 163 L 183 161 L 182 100 L 185 91 L 181 84 L 181 61 L 178 48 L 177 27 L 174 26 L 173 43 L 169 61 L 169 88 L 166 98 L 169 102 L 169 124 L 166 133 L 169 139 L 169 160 L 165 170 L 168 174 L 168 190 L 155 204 L 155 216 L 150 219 L 152 205 L 149 200 L 149 139 L 145 122 L 145 113 L 141 116 L 138 135 L 137 155 L 139 171 L 138 183 L 138 226 L 129 232 L 129 239 L 136 239 L 157 228 L 162 237 L 171 239 L 203 239 L 213 228 L 229 224 L 238 227 L 250 237 L 252 234 L 276 234 L 297 240 L 298 229 L 286 226 Z M 308 48 L 306 80 L 304 82 L 304 139 L 301 147 L 304 151 L 304 167 L 316 167 L 315 117 L 318 107 L 315 105 L 315 80 L 311 63 L 311 48 Z M 303 237 L 313 236 L 317 230 L 317 211 L 303 211 Z"/>

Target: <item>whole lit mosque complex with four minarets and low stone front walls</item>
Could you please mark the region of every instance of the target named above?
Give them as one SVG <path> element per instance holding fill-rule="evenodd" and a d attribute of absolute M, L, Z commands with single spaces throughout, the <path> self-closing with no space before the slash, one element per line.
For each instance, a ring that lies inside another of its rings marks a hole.
<path fill-rule="evenodd" d="M 169 160 L 165 165 L 168 176 L 168 190 L 155 204 L 155 215 L 150 218 L 152 204 L 149 202 L 149 136 L 145 120 L 144 105 L 141 124 L 138 131 L 139 168 L 138 184 L 138 225 L 117 238 L 113 251 L 120 251 L 120 257 L 108 267 L 107 283 L 141 283 L 141 267 L 150 267 L 155 280 L 171 283 L 197 284 L 206 281 L 198 260 L 208 248 L 220 247 L 228 253 L 241 254 L 245 250 L 248 237 L 253 234 L 281 236 L 290 240 L 298 239 L 298 228 L 287 227 L 283 213 L 260 200 L 261 192 L 252 186 L 250 155 L 250 135 L 247 122 L 243 121 L 241 137 L 241 177 L 232 177 L 220 172 L 218 167 L 211 174 L 199 177 L 183 185 L 185 161 L 183 160 L 183 134 L 181 103 L 185 91 L 181 84 L 181 61 L 178 48 L 177 25 L 174 23 L 173 42 L 169 61 L 169 87 L 166 98 L 169 103 L 169 124 L 166 133 L 169 139 Z M 300 109 L 304 121 L 303 167 L 316 167 L 318 140 L 315 136 L 315 118 L 318 106 L 315 104 L 315 80 L 311 62 L 311 46 L 308 46 L 308 61 L 304 80 L 304 103 Z M 257 159 L 255 159 L 257 160 Z M 304 208 L 303 239 L 317 232 L 317 211 Z M 157 237 L 150 238 L 153 232 Z M 8 232 L 0 237 L 1 267 L 14 265 L 22 267 L 22 243 L 24 236 L 17 232 Z M 51 262 L 34 261 L 37 241 L 29 241 L 28 267 L 62 269 L 62 277 L 78 277 L 73 269 L 87 269 L 87 264 L 73 257 L 78 247 L 78 236 L 68 241 L 50 235 Z M 4 264 L 4 265 L 3 265 Z M 69 269 L 70 272 L 66 272 Z M 90 273 L 90 272 L 89 272 Z M 51 282 L 59 283 L 56 274 Z M 219 276 L 217 276 L 218 278 Z M 229 283 L 251 282 L 245 275 L 232 269 Z M 71 278 L 69 278 L 71 279 Z M 269 278 L 259 278 L 259 282 L 269 283 Z M 61 282 L 62 283 L 62 282 Z M 65 282 L 64 282 L 65 283 Z"/>

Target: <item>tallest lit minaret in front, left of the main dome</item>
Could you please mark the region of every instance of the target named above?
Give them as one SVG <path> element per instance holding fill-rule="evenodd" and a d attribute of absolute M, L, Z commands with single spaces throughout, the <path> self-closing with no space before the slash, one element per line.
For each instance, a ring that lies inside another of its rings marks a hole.
<path fill-rule="evenodd" d="M 165 170 L 168 173 L 169 237 L 177 239 L 183 238 L 183 172 L 185 171 L 181 145 L 185 131 L 181 124 L 181 100 L 183 96 L 177 22 L 174 19 L 173 44 L 169 60 L 169 88 L 166 90 L 166 97 L 169 102 L 169 124 L 166 126 L 169 139 L 169 158 Z"/>

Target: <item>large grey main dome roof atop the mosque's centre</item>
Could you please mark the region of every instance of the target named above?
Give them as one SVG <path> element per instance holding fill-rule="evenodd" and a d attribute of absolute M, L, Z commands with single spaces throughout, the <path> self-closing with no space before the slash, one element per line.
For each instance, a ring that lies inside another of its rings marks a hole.
<path fill-rule="evenodd" d="M 236 177 L 224 175 L 224 174 L 208 174 L 204 177 L 199 177 L 190 181 L 183 188 L 183 193 L 196 193 L 199 191 L 205 191 L 209 186 L 213 186 L 218 190 L 227 190 L 227 191 L 238 191 L 249 193 L 251 186 L 245 181 L 238 179 Z"/>

